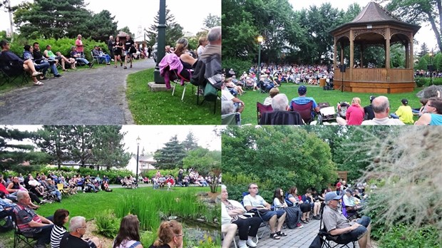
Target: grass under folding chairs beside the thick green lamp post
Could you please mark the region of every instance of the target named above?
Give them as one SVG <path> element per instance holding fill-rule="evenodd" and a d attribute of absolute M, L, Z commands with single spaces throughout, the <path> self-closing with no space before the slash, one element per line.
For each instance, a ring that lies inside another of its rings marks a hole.
<path fill-rule="evenodd" d="M 183 86 L 178 85 L 175 94 L 170 91 L 152 92 L 148 82 L 153 82 L 154 69 L 139 71 L 128 76 L 126 96 L 129 109 L 135 124 L 146 125 L 192 125 L 205 124 L 217 125 L 221 123 L 220 100 L 217 100 L 216 113 L 213 113 L 214 103 L 205 102 L 197 105 L 196 87 L 186 87 L 184 100 Z M 202 97 L 200 96 L 200 102 Z"/>

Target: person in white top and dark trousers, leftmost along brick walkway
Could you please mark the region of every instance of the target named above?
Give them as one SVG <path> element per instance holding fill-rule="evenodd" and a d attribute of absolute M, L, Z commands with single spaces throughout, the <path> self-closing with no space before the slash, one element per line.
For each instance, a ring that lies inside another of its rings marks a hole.
<path fill-rule="evenodd" d="M 228 200 L 228 197 L 227 187 L 221 185 L 221 228 L 226 232 L 222 247 L 230 247 L 237 229 L 240 236 L 239 248 L 247 248 L 247 246 L 257 247 L 257 244 L 252 239 L 257 236 L 261 219 L 258 216 L 245 217 L 243 214 L 247 211 L 242 207 L 241 203 L 235 200 Z"/>

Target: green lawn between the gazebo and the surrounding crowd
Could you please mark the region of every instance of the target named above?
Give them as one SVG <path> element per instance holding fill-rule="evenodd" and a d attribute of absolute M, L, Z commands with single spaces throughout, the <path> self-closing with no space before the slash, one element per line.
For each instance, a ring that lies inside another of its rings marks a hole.
<path fill-rule="evenodd" d="M 279 87 L 279 92 L 287 95 L 287 98 L 292 100 L 298 96 L 299 85 L 294 83 L 283 83 L 282 86 Z M 403 98 L 408 99 L 408 105 L 411 105 L 411 108 L 420 108 L 421 103 L 419 102 L 419 98 L 416 97 L 416 93 L 421 91 L 422 88 L 416 88 L 411 93 L 397 93 L 397 94 L 383 94 L 389 98 L 389 102 L 391 105 L 391 113 L 394 113 L 399 106 L 401 105 L 401 100 Z M 361 98 L 361 105 L 366 106 L 369 105 L 370 95 L 381 95 L 374 93 L 350 93 L 350 92 L 341 92 L 341 91 L 324 91 L 319 86 L 309 86 L 307 85 L 307 96 L 314 98 L 317 103 L 327 102 L 331 106 L 336 108 L 336 104 L 341 101 L 346 101 L 351 103 L 351 99 L 354 97 Z M 264 99 L 268 96 L 268 94 L 259 93 L 259 91 L 247 91 L 247 93 L 242 96 L 238 96 L 245 103 L 245 110 L 241 113 L 241 124 L 257 124 L 257 107 L 256 103 L 264 103 Z M 417 117 L 415 116 L 415 120 Z"/>

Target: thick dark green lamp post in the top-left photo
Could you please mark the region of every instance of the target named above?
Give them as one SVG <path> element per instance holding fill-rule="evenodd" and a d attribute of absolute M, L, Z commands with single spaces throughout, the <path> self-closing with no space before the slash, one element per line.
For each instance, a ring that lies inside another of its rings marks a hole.
<path fill-rule="evenodd" d="M 153 80 L 155 83 L 164 83 L 164 78 L 160 76 L 160 66 L 158 66 L 158 63 L 160 63 L 165 55 L 165 0 L 160 0 L 159 14 L 157 64 L 155 66 L 155 71 L 153 71 Z"/>

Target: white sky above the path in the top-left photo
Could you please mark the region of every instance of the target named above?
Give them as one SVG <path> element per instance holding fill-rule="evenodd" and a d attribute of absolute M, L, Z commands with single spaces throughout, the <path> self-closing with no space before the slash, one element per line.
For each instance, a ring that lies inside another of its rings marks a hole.
<path fill-rule="evenodd" d="M 11 0 L 11 6 L 16 6 L 23 1 Z M 95 14 L 107 9 L 112 16 L 115 16 L 114 20 L 118 21 L 118 29 L 128 26 L 135 35 L 138 26 L 149 30 L 160 10 L 159 0 L 85 0 L 84 2 L 88 4 L 86 9 Z M 184 31 L 193 34 L 204 27 L 203 21 L 209 14 L 221 17 L 221 0 L 166 0 L 166 6 L 175 16 L 175 21 L 183 26 Z M 6 29 L 9 29 L 9 14 L 0 11 L 0 30 Z"/>

